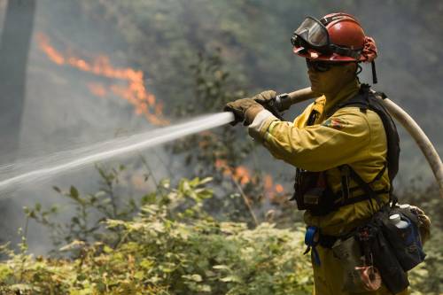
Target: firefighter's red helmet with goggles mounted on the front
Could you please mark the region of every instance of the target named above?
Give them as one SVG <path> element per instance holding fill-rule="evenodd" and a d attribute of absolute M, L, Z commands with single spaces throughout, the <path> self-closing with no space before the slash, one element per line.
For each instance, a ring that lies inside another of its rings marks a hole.
<path fill-rule="evenodd" d="M 354 16 L 330 13 L 317 20 L 307 17 L 291 38 L 297 55 L 328 61 L 372 61 L 377 57 L 374 40 L 364 34 Z"/>

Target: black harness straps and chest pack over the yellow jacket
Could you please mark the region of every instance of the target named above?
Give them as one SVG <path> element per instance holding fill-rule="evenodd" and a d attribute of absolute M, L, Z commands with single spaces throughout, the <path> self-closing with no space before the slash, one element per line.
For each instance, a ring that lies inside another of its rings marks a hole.
<path fill-rule="evenodd" d="M 297 168 L 294 195 L 291 200 L 296 200 L 299 210 L 309 210 L 313 215 L 325 215 L 338 210 L 341 206 L 355 204 L 361 201 L 370 200 L 372 206 L 372 199 L 375 199 L 381 206 L 381 198 L 379 195 L 389 193 L 392 198 L 392 180 L 399 171 L 399 157 L 400 157 L 400 141 L 397 128 L 392 120 L 391 115 L 385 109 L 381 100 L 376 96 L 385 98 L 382 92 L 373 93 L 368 84 L 361 84 L 359 93 L 345 102 L 338 104 L 331 114 L 343 107 L 356 106 L 360 108 L 361 113 L 366 113 L 371 110 L 380 117 L 385 128 L 387 139 L 387 157 L 383 169 L 379 171 L 371 182 L 364 182 L 360 175 L 348 165 L 338 167 L 341 174 L 341 191 L 334 193 L 327 182 L 326 172 L 310 172 L 304 169 Z M 315 124 L 315 120 L 320 113 L 313 111 L 310 113 L 307 126 Z M 384 174 L 385 169 L 388 169 L 388 176 L 391 182 L 390 190 L 372 190 L 371 184 L 377 182 Z M 349 180 L 354 180 L 357 186 L 350 188 Z M 352 196 L 354 191 L 361 190 L 363 193 L 359 196 Z"/>

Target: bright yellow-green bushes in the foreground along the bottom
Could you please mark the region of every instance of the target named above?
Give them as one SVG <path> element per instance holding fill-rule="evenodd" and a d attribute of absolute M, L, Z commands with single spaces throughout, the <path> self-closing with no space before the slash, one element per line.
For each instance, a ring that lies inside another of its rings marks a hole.
<path fill-rule="evenodd" d="M 310 293 L 301 230 L 214 221 L 202 210 L 213 196 L 209 181 L 161 182 L 133 219 L 105 221 L 118 244 L 74 240 L 61 249 L 76 253 L 71 260 L 3 247 L 10 259 L 0 264 L 2 294 Z"/>

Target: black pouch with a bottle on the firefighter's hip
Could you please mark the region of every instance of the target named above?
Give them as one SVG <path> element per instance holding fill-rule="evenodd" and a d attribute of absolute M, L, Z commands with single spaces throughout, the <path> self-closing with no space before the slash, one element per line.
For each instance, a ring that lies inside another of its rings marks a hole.
<path fill-rule="evenodd" d="M 419 232 L 418 215 L 410 207 L 402 209 L 392 208 L 389 213 L 399 213 L 402 221 L 408 222 L 408 228 L 398 229 L 389 218 L 383 219 L 383 234 L 392 245 L 393 252 L 399 260 L 401 268 L 408 271 L 424 261 L 426 254 L 423 251 L 422 239 Z"/>

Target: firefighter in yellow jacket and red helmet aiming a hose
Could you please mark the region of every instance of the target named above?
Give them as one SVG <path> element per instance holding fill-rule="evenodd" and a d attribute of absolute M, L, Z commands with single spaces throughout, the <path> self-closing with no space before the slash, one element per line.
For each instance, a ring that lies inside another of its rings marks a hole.
<path fill-rule="evenodd" d="M 299 209 L 306 210 L 314 293 L 352 294 L 355 289 L 344 288 L 344 263 L 332 247 L 389 203 L 392 175 L 398 169 L 398 154 L 391 159 L 396 164 L 388 163 L 390 138 L 380 114 L 346 105 L 354 97 L 369 95 L 357 74 L 361 62 L 372 63 L 375 74 L 377 47 L 358 20 L 346 13 L 307 17 L 291 43 L 294 53 L 306 59 L 311 89 L 318 94 L 315 102 L 293 122 L 277 119 L 262 106 L 276 98 L 272 90 L 238 99 L 225 110 L 237 121 L 245 120 L 249 135 L 276 159 L 297 167 L 294 198 Z M 380 283 L 377 270 L 366 279 L 360 294 L 408 294 L 407 287 L 392 289 L 386 287 L 389 282 Z"/>

